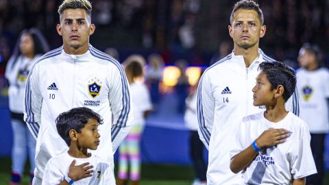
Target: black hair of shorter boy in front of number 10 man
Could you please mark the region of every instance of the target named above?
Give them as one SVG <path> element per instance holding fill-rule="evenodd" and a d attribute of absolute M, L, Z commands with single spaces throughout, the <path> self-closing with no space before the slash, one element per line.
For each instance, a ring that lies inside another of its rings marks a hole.
<path fill-rule="evenodd" d="M 69 136 L 69 131 L 75 130 L 81 133 L 88 119 L 95 119 L 99 124 L 103 124 L 101 116 L 93 112 L 93 110 L 90 110 L 90 108 L 73 108 L 67 112 L 62 112 L 56 118 L 57 132 L 65 140 L 65 143 L 70 146 L 71 138 Z"/>

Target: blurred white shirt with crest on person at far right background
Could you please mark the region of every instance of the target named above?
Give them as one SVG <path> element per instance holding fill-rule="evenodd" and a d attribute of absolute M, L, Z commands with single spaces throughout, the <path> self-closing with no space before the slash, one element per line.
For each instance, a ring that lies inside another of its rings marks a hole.
<path fill-rule="evenodd" d="M 297 88 L 300 93 L 300 118 L 306 121 L 312 134 L 329 132 L 329 71 L 297 70 Z"/>

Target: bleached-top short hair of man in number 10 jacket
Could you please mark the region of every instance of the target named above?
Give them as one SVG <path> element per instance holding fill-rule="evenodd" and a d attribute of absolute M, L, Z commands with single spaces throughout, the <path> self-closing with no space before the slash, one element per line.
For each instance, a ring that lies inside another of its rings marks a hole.
<path fill-rule="evenodd" d="M 64 0 L 63 3 L 58 8 L 58 14 L 62 16 L 64 10 L 66 9 L 84 9 L 88 16 L 91 15 L 91 3 L 88 0 Z"/>

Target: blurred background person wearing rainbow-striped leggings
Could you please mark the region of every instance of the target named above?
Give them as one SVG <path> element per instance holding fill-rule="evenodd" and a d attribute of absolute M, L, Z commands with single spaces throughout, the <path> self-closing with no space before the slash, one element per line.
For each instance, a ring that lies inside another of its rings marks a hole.
<path fill-rule="evenodd" d="M 134 125 L 132 125 L 132 129 L 119 147 L 117 185 L 127 184 L 128 178 L 130 178 L 131 185 L 138 185 L 141 178 L 141 136 L 145 119 L 147 119 L 151 112 L 152 104 L 149 91 L 143 83 L 143 66 L 145 65 L 143 56 L 130 56 L 125 60 L 123 65 L 130 84 L 132 106 L 134 107 L 132 110 Z M 128 171 L 130 171 L 129 177 L 127 174 Z"/>

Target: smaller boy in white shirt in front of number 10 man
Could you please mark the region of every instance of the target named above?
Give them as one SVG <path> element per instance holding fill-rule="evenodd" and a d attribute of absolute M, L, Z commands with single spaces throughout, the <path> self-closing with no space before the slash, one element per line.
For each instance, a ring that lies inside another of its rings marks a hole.
<path fill-rule="evenodd" d="M 69 145 L 69 150 L 47 162 L 42 184 L 112 183 L 110 165 L 88 153 L 88 149 L 96 150 L 99 145 L 97 127 L 102 123 L 101 116 L 89 108 L 73 108 L 57 117 L 58 134 Z"/>

